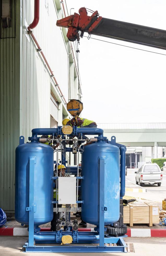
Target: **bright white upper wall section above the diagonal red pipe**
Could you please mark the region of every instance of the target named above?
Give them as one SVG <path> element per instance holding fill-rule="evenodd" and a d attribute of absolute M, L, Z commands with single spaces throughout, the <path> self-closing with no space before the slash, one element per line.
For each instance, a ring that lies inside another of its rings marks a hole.
<path fill-rule="evenodd" d="M 54 1 L 48 0 L 48 3 L 49 11 L 45 7 L 45 1 L 40 1 L 40 20 L 37 27 L 33 29 L 33 33 L 54 72 L 63 95 L 68 100 L 67 48 L 62 36 L 62 29 L 56 26 L 58 16 Z M 31 0 L 32 8 L 33 5 L 34 1 Z"/>

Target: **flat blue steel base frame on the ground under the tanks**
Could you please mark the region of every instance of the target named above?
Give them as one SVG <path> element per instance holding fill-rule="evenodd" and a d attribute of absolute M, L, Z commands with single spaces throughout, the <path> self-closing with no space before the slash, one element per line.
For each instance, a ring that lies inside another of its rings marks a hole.
<path fill-rule="evenodd" d="M 123 236 L 125 237 L 125 236 Z M 65 245 L 60 246 L 60 244 L 57 244 L 55 246 L 28 246 L 28 242 L 25 243 L 23 247 L 25 247 L 25 252 L 59 252 L 59 253 L 101 253 L 101 252 L 127 252 L 126 251 L 126 243 L 123 240 L 123 237 L 105 237 L 104 243 L 110 243 L 110 244 L 119 244 L 118 246 L 87 246 L 85 245 L 86 241 L 84 242 L 84 245 Z M 37 241 L 36 241 L 37 242 Z M 39 241 L 38 241 L 39 242 Z M 46 243 L 52 243 L 53 241 L 47 241 Z M 95 243 L 96 241 L 94 241 Z M 43 244 L 43 241 L 42 241 Z"/>

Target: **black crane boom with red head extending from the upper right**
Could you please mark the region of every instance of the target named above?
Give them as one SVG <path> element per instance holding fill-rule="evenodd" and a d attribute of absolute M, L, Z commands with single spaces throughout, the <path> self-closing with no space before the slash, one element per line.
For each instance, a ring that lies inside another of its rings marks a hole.
<path fill-rule="evenodd" d="M 99 16 L 98 11 L 88 16 L 85 7 L 79 9 L 79 14 L 74 13 L 74 15 L 57 20 L 56 25 L 68 28 L 67 37 L 70 41 L 79 40 L 84 32 L 87 32 L 166 50 L 165 30 L 106 19 Z"/>

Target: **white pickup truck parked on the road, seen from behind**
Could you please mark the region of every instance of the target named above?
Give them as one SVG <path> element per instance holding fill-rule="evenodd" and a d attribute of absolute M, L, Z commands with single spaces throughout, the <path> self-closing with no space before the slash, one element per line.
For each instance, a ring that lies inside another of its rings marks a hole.
<path fill-rule="evenodd" d="M 138 172 L 135 173 L 137 185 L 139 184 L 142 187 L 143 184 L 148 183 L 161 186 L 163 175 L 161 174 L 161 169 L 158 164 L 144 164 Z"/>

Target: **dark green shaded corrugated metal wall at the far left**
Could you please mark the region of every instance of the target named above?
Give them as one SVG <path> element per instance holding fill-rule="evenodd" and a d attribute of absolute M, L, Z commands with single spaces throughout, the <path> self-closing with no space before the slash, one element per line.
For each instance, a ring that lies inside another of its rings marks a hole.
<path fill-rule="evenodd" d="M 11 10 L 11 27 L 2 28 L 0 39 L 0 207 L 4 210 L 14 209 L 15 192 L 15 1 Z"/>

